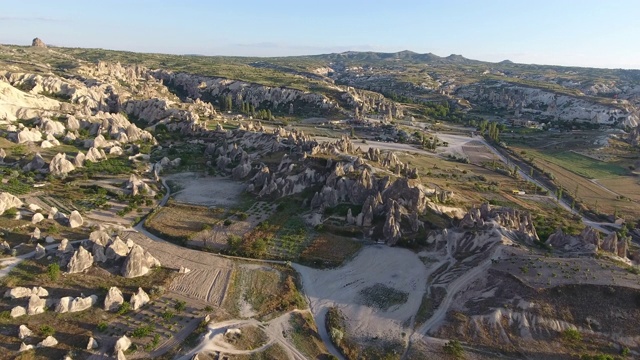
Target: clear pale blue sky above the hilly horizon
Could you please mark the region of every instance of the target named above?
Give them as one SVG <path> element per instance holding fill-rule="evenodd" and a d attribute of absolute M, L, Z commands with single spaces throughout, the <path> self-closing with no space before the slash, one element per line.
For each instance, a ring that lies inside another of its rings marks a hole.
<path fill-rule="evenodd" d="M 640 0 L 0 0 L 0 43 L 287 56 L 411 50 L 640 69 Z"/>

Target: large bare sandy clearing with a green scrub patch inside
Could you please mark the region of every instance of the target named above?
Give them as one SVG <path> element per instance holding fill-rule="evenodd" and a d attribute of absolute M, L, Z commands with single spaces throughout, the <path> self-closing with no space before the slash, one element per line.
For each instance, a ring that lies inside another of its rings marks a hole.
<path fill-rule="evenodd" d="M 302 276 L 316 323 L 324 324 L 326 310 L 338 307 L 347 318 L 351 333 L 363 337 L 400 339 L 406 324 L 418 311 L 426 287 L 426 269 L 415 253 L 382 245 L 364 248 L 351 262 L 337 269 L 293 266 Z M 408 293 L 407 302 L 387 311 L 358 304 L 359 291 L 375 284 Z M 326 329 L 319 328 L 321 336 L 323 333 L 326 336 Z"/>

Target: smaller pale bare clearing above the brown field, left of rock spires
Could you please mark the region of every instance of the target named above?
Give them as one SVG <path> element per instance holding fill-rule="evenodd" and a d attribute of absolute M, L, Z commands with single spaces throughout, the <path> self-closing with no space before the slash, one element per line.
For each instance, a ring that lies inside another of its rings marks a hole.
<path fill-rule="evenodd" d="M 229 177 L 203 176 L 198 173 L 179 173 L 165 177 L 177 182 L 182 190 L 174 194 L 177 201 L 205 206 L 233 206 L 245 185 Z"/>

